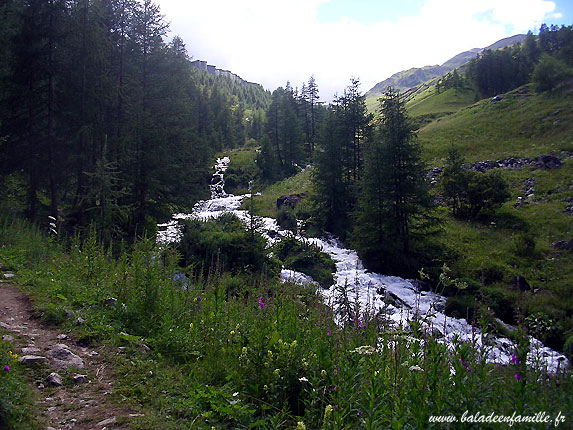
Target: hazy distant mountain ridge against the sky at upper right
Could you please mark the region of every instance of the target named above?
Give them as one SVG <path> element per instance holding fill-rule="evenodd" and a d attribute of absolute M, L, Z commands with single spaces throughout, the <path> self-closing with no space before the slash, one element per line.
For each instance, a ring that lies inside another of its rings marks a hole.
<path fill-rule="evenodd" d="M 458 55 L 450 58 L 442 65 L 435 66 L 424 66 L 424 67 L 414 67 L 412 69 L 403 70 L 398 73 L 394 73 L 388 79 L 382 82 L 378 82 L 374 87 L 366 92 L 366 97 L 377 97 L 384 94 L 388 87 L 400 91 L 406 91 L 410 88 L 420 85 L 423 82 L 429 81 L 430 79 L 437 78 L 438 76 L 445 75 L 448 72 L 466 64 L 468 61 L 477 57 L 477 55 L 487 49 L 496 50 L 505 48 L 506 46 L 515 45 L 521 43 L 525 40 L 525 34 L 516 34 L 514 36 L 506 37 L 504 39 L 498 40 L 492 45 L 486 48 L 474 48 L 469 51 L 464 51 Z"/>

